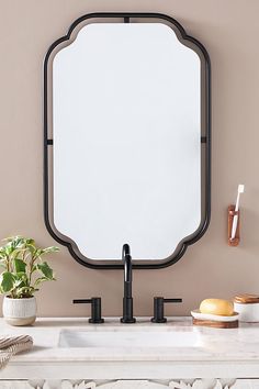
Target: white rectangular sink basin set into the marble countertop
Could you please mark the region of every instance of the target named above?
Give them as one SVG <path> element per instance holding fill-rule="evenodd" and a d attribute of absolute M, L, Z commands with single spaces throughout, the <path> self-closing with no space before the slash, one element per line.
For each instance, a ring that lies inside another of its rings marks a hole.
<path fill-rule="evenodd" d="M 192 331 L 160 331 L 148 329 L 78 331 L 63 330 L 59 347 L 193 347 L 198 346 L 199 334 Z"/>

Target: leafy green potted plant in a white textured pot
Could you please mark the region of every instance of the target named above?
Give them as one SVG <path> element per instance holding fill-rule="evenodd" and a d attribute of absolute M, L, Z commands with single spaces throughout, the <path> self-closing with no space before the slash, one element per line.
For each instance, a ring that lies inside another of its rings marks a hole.
<path fill-rule="evenodd" d="M 12 236 L 0 247 L 0 293 L 3 316 L 9 324 L 29 325 L 36 319 L 35 291 L 42 282 L 55 280 L 53 269 L 42 257 L 59 248 L 40 248 L 34 240 Z"/>

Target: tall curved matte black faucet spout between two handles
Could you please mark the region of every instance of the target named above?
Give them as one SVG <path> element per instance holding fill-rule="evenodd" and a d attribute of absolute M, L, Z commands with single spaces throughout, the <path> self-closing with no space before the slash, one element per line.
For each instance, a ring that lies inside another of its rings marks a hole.
<path fill-rule="evenodd" d="M 132 298 L 132 257 L 128 244 L 122 247 L 122 260 L 124 263 L 124 298 L 122 323 L 135 323 L 133 318 L 133 298 Z"/>

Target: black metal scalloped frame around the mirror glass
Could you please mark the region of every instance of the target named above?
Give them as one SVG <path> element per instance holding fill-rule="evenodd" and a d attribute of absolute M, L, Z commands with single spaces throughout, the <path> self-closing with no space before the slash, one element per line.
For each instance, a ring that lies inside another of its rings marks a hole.
<path fill-rule="evenodd" d="M 177 249 L 171 256 L 164 260 L 150 260 L 150 262 L 134 262 L 133 268 L 136 269 L 158 269 L 165 268 L 176 264 L 185 253 L 189 245 L 192 245 L 199 241 L 210 224 L 211 216 L 211 63 L 210 56 L 204 46 L 194 37 L 189 36 L 182 25 L 174 19 L 160 14 L 160 13 L 139 13 L 139 12 L 104 12 L 104 13 L 90 13 L 77 19 L 69 27 L 68 33 L 57 41 L 55 41 L 45 56 L 44 60 L 44 219 L 47 231 L 54 237 L 55 241 L 66 246 L 71 256 L 82 266 L 93 269 L 123 269 L 122 263 L 115 263 L 106 260 L 99 262 L 85 257 L 77 244 L 69 238 L 60 234 L 53 223 L 53 199 L 52 199 L 52 153 L 49 148 L 53 145 L 53 136 L 49 134 L 49 120 L 52 118 L 52 100 L 49 96 L 50 89 L 50 71 L 49 64 L 52 64 L 54 55 L 63 47 L 72 43 L 77 36 L 78 31 L 86 25 L 86 22 L 92 22 L 94 20 L 124 20 L 130 22 L 131 19 L 143 19 L 145 21 L 155 20 L 156 22 L 165 23 L 169 25 L 178 36 L 178 40 L 185 46 L 191 47 L 201 59 L 202 76 L 201 76 L 201 89 L 202 89 L 202 104 L 201 104 L 201 119 L 202 119 L 202 133 L 201 143 L 202 149 L 202 221 L 199 229 L 187 238 L 183 238 Z"/>

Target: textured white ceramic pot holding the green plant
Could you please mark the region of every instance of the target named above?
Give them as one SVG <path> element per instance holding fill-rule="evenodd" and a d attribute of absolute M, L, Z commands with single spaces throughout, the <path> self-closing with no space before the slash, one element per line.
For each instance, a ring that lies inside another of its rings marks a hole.
<path fill-rule="evenodd" d="M 4 320 L 11 325 L 30 325 L 36 320 L 36 299 L 11 299 L 4 296 L 2 314 Z"/>

